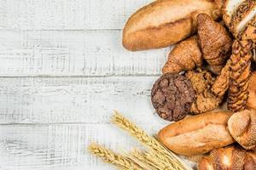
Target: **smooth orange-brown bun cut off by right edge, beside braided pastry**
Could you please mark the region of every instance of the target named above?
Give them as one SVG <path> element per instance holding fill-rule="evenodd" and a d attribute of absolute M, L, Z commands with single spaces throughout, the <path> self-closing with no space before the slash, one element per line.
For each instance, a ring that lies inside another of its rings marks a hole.
<path fill-rule="evenodd" d="M 256 109 L 256 71 L 251 74 L 248 91 L 247 108 Z"/>

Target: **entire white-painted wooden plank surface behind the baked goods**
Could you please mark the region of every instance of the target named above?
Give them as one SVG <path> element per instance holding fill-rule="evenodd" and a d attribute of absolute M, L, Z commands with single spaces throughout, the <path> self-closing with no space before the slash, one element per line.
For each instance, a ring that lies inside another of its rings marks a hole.
<path fill-rule="evenodd" d="M 167 122 L 150 88 L 169 48 L 131 53 L 122 28 L 152 0 L 0 0 L 0 169 L 112 169 L 86 150 L 137 145 L 113 110 L 148 133 Z"/>

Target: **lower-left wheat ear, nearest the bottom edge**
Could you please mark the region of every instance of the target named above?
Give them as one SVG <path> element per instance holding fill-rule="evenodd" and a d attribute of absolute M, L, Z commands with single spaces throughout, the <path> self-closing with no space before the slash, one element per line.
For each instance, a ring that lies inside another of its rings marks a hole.
<path fill-rule="evenodd" d="M 90 153 L 101 157 L 103 161 L 111 163 L 121 169 L 143 170 L 142 167 L 139 167 L 125 156 L 114 153 L 112 150 L 108 150 L 99 144 L 90 144 L 88 149 L 90 150 Z"/>

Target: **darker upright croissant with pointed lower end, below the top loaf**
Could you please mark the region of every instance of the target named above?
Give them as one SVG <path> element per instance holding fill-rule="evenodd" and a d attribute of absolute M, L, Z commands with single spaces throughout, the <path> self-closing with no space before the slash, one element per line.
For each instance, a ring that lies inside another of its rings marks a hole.
<path fill-rule="evenodd" d="M 215 72 L 221 71 L 230 56 L 232 39 L 230 33 L 207 14 L 198 14 L 198 40 L 203 58 Z"/>

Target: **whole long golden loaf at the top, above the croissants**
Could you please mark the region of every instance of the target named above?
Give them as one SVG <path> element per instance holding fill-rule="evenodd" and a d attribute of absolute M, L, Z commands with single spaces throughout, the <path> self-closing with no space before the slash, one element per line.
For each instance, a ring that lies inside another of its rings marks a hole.
<path fill-rule="evenodd" d="M 189 37 L 196 31 L 196 16 L 220 11 L 212 0 L 158 0 L 139 9 L 127 21 L 123 46 L 131 51 L 163 48 Z"/>

